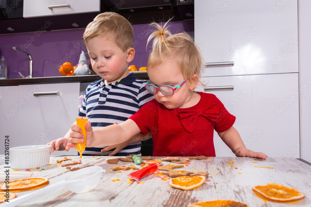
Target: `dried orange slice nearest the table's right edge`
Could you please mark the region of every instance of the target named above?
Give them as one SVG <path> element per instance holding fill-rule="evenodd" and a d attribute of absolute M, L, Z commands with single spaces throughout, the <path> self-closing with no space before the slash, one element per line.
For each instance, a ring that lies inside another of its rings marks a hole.
<path fill-rule="evenodd" d="M 304 198 L 303 193 L 282 184 L 267 183 L 266 186 L 254 186 L 253 191 L 259 197 L 275 202 L 287 202 Z"/>

